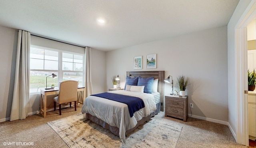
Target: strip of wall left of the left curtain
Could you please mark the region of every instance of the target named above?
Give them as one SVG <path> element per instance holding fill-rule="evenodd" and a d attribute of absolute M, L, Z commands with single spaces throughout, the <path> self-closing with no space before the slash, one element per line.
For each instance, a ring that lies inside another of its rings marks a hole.
<path fill-rule="evenodd" d="M 17 40 L 18 30 L 0 26 L 0 122 L 10 117 Z"/>

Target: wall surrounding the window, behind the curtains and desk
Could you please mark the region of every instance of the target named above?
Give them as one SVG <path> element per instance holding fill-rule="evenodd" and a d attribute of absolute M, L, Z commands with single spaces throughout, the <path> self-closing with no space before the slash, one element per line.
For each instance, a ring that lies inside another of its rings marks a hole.
<path fill-rule="evenodd" d="M 14 86 L 16 48 L 17 48 L 18 30 L 0 26 L 0 122 L 9 120 L 10 108 L 12 105 L 12 90 Z M 52 44 L 54 41 L 32 37 L 31 43 L 42 45 Z M 84 53 L 84 48 L 79 49 L 76 46 L 61 43 L 56 46 L 58 49 L 70 50 L 73 52 Z M 106 52 L 92 49 L 92 88 L 94 93 L 104 92 L 106 90 Z M 36 113 L 40 108 L 40 94 L 31 94 L 28 106 L 28 114 Z"/>

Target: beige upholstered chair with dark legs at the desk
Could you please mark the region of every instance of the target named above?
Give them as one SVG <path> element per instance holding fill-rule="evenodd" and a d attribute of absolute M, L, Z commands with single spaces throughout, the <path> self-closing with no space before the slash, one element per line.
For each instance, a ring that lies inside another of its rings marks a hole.
<path fill-rule="evenodd" d="M 76 100 L 77 100 L 77 87 L 78 81 L 67 80 L 60 82 L 59 85 L 59 94 L 54 97 L 54 111 L 56 110 L 56 102 L 59 104 L 59 110 L 61 115 L 61 104 L 70 102 L 75 102 L 75 111 L 76 111 Z"/>

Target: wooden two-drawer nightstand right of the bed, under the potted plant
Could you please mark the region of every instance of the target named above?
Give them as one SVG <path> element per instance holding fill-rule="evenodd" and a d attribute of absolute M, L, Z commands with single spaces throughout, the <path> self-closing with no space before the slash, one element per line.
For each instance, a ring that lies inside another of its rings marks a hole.
<path fill-rule="evenodd" d="M 184 122 L 188 119 L 188 96 L 174 96 L 165 95 L 164 96 L 164 116 L 171 116 L 179 119 L 183 119 Z"/>

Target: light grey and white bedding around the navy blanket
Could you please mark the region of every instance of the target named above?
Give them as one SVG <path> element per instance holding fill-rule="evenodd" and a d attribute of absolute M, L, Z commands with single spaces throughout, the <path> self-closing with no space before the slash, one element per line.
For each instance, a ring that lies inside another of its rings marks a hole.
<path fill-rule="evenodd" d="M 131 118 L 128 106 L 126 104 L 96 96 L 88 96 L 82 107 L 83 117 L 86 118 L 85 113 L 89 113 L 92 116 L 96 116 L 97 118 L 108 123 L 110 126 L 118 127 L 119 137 L 123 142 L 125 142 L 126 131 L 134 128 L 137 121 L 150 115 L 156 110 L 154 96 L 152 94 L 143 92 L 130 92 L 126 90 L 115 90 L 110 91 L 110 93 L 141 98 L 145 104 L 145 107 L 135 112 L 134 116 Z"/>

